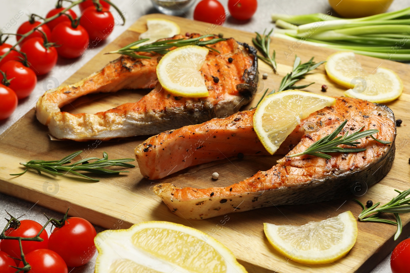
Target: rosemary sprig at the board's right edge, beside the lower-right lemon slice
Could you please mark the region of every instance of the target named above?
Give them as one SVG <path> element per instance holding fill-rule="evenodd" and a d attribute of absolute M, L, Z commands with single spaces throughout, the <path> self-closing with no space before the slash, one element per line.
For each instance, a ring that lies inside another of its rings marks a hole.
<path fill-rule="evenodd" d="M 394 197 L 392 200 L 389 201 L 389 203 L 386 203 L 380 207 L 380 202 L 374 204 L 370 208 L 366 209 L 362 202 L 360 202 L 357 199 L 353 199 L 356 201 L 360 206 L 362 206 L 363 211 L 359 214 L 359 221 L 362 222 L 376 222 L 376 223 L 387 223 L 391 225 L 397 225 L 397 231 L 396 234 L 394 235 L 394 240 L 399 238 L 402 230 L 403 230 L 403 225 L 401 223 L 401 218 L 400 218 L 400 213 L 408 213 L 410 212 L 410 197 L 407 197 L 410 194 L 410 189 L 401 192 L 399 190 L 395 190 L 396 192 L 399 193 L 396 197 Z M 383 212 L 385 213 L 393 213 L 394 217 L 396 217 L 396 222 L 386 220 L 386 219 L 380 219 L 379 216 Z M 373 215 L 371 215 L 373 214 Z"/>

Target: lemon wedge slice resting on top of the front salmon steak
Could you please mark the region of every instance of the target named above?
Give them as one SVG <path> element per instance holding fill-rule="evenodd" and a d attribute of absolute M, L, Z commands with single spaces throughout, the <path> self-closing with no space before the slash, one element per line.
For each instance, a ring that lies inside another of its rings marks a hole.
<path fill-rule="evenodd" d="M 257 107 L 253 128 L 266 151 L 273 154 L 301 119 L 335 102 L 335 98 L 299 90 L 273 93 Z"/>

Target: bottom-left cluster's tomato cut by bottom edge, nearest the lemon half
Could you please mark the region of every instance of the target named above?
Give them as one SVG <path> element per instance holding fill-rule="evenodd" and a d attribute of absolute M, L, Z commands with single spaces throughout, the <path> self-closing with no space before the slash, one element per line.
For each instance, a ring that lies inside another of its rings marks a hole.
<path fill-rule="evenodd" d="M 26 271 L 26 273 L 68 273 L 68 268 L 63 258 L 49 249 L 34 250 L 26 254 L 25 259 L 31 266 L 30 271 Z M 18 265 L 18 267 L 23 266 L 23 262 L 20 262 Z"/>

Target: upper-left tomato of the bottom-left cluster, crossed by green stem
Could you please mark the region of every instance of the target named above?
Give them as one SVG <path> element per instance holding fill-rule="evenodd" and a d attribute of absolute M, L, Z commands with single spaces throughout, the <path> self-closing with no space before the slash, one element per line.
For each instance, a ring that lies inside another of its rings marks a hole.
<path fill-rule="evenodd" d="M 0 87 L 1 88 L 1 87 Z M 11 89 L 10 89 L 11 90 Z M 0 91 L 1 92 L 1 91 Z M 1 94 L 1 93 L 0 93 Z M 17 98 L 17 96 L 16 96 Z M 0 98 L 0 104 L 3 102 L 3 99 Z M 2 109 L 0 107 L 0 109 Z M 20 226 L 18 228 L 9 228 L 6 230 L 6 236 L 15 236 L 15 237 L 34 237 L 41 230 L 42 226 L 36 221 L 32 220 L 21 220 Z M 36 241 L 22 241 L 21 245 L 23 246 L 23 253 L 30 253 L 33 250 L 39 248 L 47 248 L 48 246 L 48 235 L 46 230 L 43 230 L 40 234 L 40 238 L 43 239 L 42 242 Z M 2 239 L 0 241 L 0 250 L 4 251 L 8 255 L 14 258 L 20 257 L 20 245 L 17 240 L 6 240 Z M 27 256 L 26 256 L 27 257 Z M 19 262 L 19 261 L 17 261 Z"/>

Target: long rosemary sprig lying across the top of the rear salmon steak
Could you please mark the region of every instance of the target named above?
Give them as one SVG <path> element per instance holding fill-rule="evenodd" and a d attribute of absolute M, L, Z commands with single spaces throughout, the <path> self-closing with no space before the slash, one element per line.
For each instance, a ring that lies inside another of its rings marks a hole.
<path fill-rule="evenodd" d="M 127 55 L 136 59 L 151 59 L 150 56 L 144 56 L 144 55 L 138 55 L 135 54 L 135 52 L 151 52 L 151 53 L 159 53 L 159 54 L 166 54 L 169 52 L 169 49 L 171 47 L 182 47 L 185 45 L 199 45 L 203 46 L 206 48 L 209 48 L 210 50 L 213 50 L 215 52 L 220 53 L 218 50 L 208 47 L 207 45 L 212 45 L 214 43 L 218 43 L 220 41 L 225 41 L 226 39 L 224 38 L 213 38 L 207 41 L 204 41 L 204 38 L 208 37 L 213 37 L 214 35 L 208 34 L 208 35 L 203 35 L 198 38 L 190 38 L 190 39 L 173 39 L 173 40 L 164 40 L 164 41 L 158 41 L 154 43 L 150 43 L 147 45 L 141 45 L 138 46 L 140 43 L 144 43 L 148 41 L 149 39 L 142 39 L 139 41 L 135 41 L 133 43 L 130 43 L 129 45 L 126 45 L 123 48 L 120 48 L 119 50 L 111 51 L 105 54 L 123 54 Z"/>

